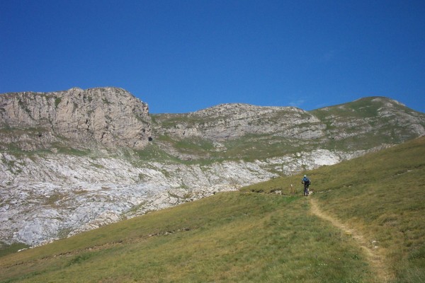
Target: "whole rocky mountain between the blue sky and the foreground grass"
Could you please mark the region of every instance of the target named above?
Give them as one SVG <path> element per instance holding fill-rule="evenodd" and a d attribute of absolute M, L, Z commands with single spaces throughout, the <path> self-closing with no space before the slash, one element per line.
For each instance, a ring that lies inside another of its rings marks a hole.
<path fill-rule="evenodd" d="M 424 113 L 388 98 L 310 112 L 224 104 L 149 115 L 120 88 L 6 93 L 0 244 L 38 245 L 331 165 L 419 137 L 424 127 Z"/>

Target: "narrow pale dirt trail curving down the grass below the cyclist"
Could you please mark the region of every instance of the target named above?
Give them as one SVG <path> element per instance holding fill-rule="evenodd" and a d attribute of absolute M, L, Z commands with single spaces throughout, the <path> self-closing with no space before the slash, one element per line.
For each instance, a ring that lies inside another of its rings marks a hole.
<path fill-rule="evenodd" d="M 375 248 L 373 243 L 368 243 L 365 237 L 356 229 L 349 227 L 346 224 L 341 223 L 338 219 L 335 219 L 331 215 L 325 213 L 320 209 L 317 201 L 309 197 L 310 209 L 312 214 L 318 216 L 321 219 L 331 222 L 333 226 L 343 231 L 346 235 L 351 236 L 358 246 L 361 247 L 366 259 L 370 263 L 370 266 L 375 272 L 376 282 L 388 282 L 392 278 L 390 270 L 385 265 L 382 255 L 378 253 L 378 249 Z"/>

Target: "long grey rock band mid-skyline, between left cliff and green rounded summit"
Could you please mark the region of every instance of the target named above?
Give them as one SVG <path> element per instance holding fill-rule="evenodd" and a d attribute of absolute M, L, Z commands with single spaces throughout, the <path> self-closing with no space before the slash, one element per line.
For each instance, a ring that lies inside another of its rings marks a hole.
<path fill-rule="evenodd" d="M 311 113 L 294 107 L 222 104 L 188 114 L 155 116 L 154 133 L 224 141 L 246 134 L 277 134 L 297 139 L 324 136 L 325 125 Z M 174 121 L 174 122 L 171 122 Z"/>

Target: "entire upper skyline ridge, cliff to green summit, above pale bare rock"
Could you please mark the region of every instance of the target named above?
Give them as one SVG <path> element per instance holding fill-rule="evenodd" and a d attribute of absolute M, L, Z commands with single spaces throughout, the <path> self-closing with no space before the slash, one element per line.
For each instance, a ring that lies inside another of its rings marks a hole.
<path fill-rule="evenodd" d="M 149 115 L 121 88 L 71 88 L 0 95 L 0 148 L 34 151 L 128 147 L 154 141 L 176 158 L 259 158 L 300 149 L 370 149 L 424 134 L 425 115 L 383 97 L 305 111 L 223 104 L 185 114 Z"/>

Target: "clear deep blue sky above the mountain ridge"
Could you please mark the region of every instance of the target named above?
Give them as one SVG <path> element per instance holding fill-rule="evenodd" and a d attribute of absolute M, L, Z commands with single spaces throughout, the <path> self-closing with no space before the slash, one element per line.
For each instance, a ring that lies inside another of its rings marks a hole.
<path fill-rule="evenodd" d="M 425 1 L 0 0 L 0 93 L 74 86 L 154 113 L 364 96 L 425 112 Z"/>

